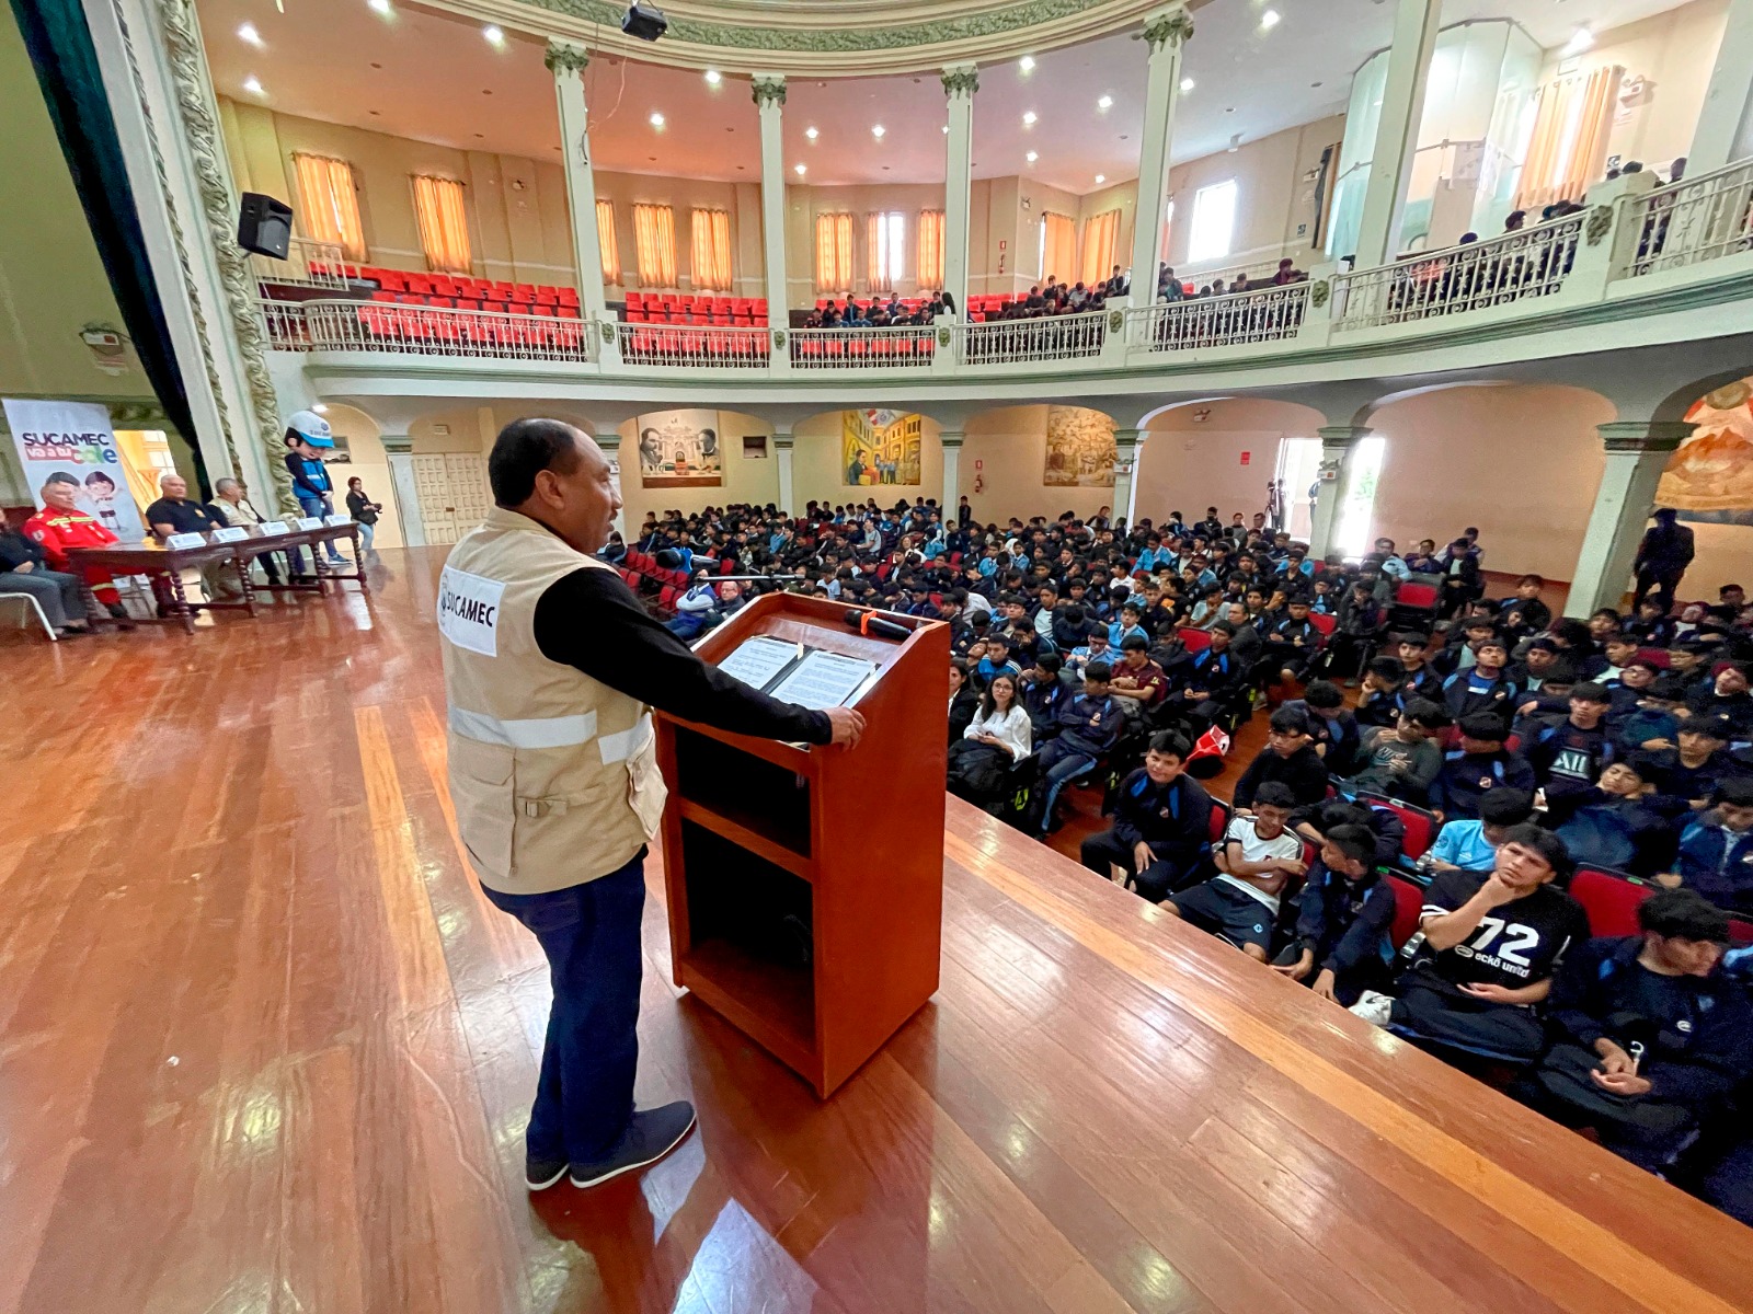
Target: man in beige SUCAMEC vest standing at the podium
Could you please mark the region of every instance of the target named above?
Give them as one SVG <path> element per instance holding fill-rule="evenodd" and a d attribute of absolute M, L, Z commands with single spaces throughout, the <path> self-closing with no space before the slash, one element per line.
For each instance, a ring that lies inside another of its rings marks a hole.
<path fill-rule="evenodd" d="M 487 899 L 542 943 L 554 985 L 526 1132 L 529 1190 L 594 1186 L 663 1158 L 685 1100 L 633 1109 L 645 844 L 664 785 L 650 710 L 735 734 L 855 745 L 864 718 L 778 703 L 699 661 L 612 566 L 621 496 L 601 449 L 561 420 L 508 424 L 494 508 L 438 587 L 451 799 Z"/>

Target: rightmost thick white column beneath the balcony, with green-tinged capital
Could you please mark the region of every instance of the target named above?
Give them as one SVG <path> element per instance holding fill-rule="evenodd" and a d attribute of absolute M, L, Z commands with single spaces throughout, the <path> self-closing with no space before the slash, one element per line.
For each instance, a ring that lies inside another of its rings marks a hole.
<path fill-rule="evenodd" d="M 1618 606 L 1632 578 L 1632 561 L 1655 510 L 1655 487 L 1667 459 L 1693 431 L 1686 420 L 1616 420 L 1597 424 L 1608 449 L 1600 491 L 1583 531 L 1583 550 L 1571 575 L 1567 617 L 1585 618 L 1602 606 Z"/>

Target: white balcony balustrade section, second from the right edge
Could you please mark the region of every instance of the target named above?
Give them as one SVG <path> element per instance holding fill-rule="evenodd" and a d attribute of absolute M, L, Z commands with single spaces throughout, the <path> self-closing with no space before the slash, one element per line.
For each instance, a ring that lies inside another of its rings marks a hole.
<path fill-rule="evenodd" d="M 1490 242 L 1341 275 L 1334 280 L 1334 328 L 1408 324 L 1551 296 L 1576 261 L 1583 219 L 1572 214 Z"/>

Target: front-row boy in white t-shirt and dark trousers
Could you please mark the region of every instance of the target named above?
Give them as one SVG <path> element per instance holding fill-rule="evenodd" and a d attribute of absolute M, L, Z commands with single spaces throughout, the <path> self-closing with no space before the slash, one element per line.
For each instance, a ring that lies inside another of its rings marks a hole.
<path fill-rule="evenodd" d="M 1162 911 L 1222 936 L 1255 962 L 1266 962 L 1285 881 L 1302 876 L 1302 839 L 1287 829 L 1295 794 L 1269 780 L 1253 795 L 1253 815 L 1231 818 L 1213 853 L 1220 876 L 1182 890 Z"/>

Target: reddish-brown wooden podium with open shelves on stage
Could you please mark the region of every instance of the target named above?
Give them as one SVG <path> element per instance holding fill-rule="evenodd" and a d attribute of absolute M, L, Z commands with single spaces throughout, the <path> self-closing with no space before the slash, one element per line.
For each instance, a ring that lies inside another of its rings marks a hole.
<path fill-rule="evenodd" d="M 950 634 L 887 639 L 843 603 L 766 594 L 696 645 L 766 634 L 878 669 L 847 706 L 857 748 L 750 739 L 657 715 L 670 785 L 675 983 L 827 1099 L 938 988 Z"/>

